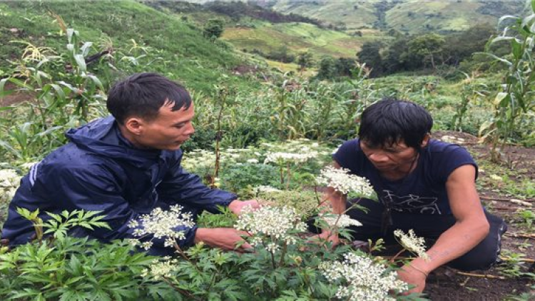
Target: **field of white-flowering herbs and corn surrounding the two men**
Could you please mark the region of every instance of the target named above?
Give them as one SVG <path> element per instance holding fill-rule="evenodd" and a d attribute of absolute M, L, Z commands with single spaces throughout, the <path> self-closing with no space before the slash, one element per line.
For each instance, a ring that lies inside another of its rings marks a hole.
<path fill-rule="evenodd" d="M 437 285 L 429 285 L 431 295 L 407 295 L 409 287 L 396 278 L 404 261 L 423 256 L 421 239 L 397 233 L 399 252 L 394 256 L 381 255 L 381 241 L 369 242 L 367 250 L 355 248 L 344 228 L 358 221 L 325 211 L 325 187 L 348 198 L 374 198 L 364 179 L 328 165 L 337 146 L 356 136 L 364 108 L 384 97 L 398 97 L 425 106 L 435 118 L 434 131 L 453 133 L 454 142 L 466 142 L 458 133 L 475 139 L 479 149 L 470 151 L 481 158 L 485 172 L 480 189 L 490 210 L 499 210 L 490 200 L 523 202 L 504 213 L 514 233 L 524 237 L 521 245 L 506 246 L 504 265 L 493 271 L 499 275 L 464 277 L 521 283 L 499 300 L 530 300 L 535 290 L 530 236 L 535 185 L 529 168 L 535 163 L 527 155 L 515 156 L 513 147 L 534 153 L 533 16 L 515 19 L 509 31 L 494 40 L 511 46 L 508 55 L 494 57 L 503 64 L 494 74 L 464 74 L 461 81 L 440 76 L 371 80 L 366 66 L 336 83 L 263 70 L 253 76 L 256 81 L 262 78 L 260 88 L 243 91 L 233 78 L 221 75 L 212 88 L 192 91 L 196 133 L 183 146 L 183 167 L 206 185 L 238 193 L 240 199 L 257 198 L 263 207 L 239 218 L 221 208 L 221 214 L 203 213 L 197 220 L 180 207 L 156 209 L 131 223 L 132 228 L 143 225 L 136 235 L 165 238 L 176 251 L 173 257 L 146 255 L 150 242 L 103 244 L 68 236 L 74 227 L 108 227 L 95 212 L 63 212 L 43 222 L 36 212 L 19 208 L 34 223 L 36 239 L 13 250 L 1 247 L 1 299 L 439 300 L 432 295 Z M 120 51 L 104 53 L 89 64 L 95 46 L 75 29 L 65 27 L 62 36 L 63 49 L 26 44 L 0 79 L 0 225 L 21 176 L 66 143 L 63 132 L 68 128 L 106 116 L 109 86 L 121 74 L 140 68 L 136 59 Z M 167 75 L 179 77 L 172 72 Z M 14 98 L 22 101 L 11 102 Z M 518 168 L 522 165 L 528 170 Z M 181 233 L 170 229 L 193 223 L 242 230 L 252 250 L 226 252 L 200 244 L 182 250 L 176 243 Z M 310 225 L 339 233 L 342 244 L 333 248 L 330 241 L 310 233 Z"/>

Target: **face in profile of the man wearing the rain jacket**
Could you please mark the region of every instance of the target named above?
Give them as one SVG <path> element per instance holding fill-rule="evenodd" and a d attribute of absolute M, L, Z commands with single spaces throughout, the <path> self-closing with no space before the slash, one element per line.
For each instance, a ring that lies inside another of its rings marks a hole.
<path fill-rule="evenodd" d="M 171 111 L 171 108 L 173 108 L 173 103 L 165 103 L 155 119 L 151 121 L 141 119 L 142 126 L 138 135 L 134 136 L 134 145 L 140 148 L 176 151 L 185 141 L 188 141 L 195 133 L 192 123 L 195 115 L 193 103 L 187 110 L 180 108 L 180 110 Z"/>

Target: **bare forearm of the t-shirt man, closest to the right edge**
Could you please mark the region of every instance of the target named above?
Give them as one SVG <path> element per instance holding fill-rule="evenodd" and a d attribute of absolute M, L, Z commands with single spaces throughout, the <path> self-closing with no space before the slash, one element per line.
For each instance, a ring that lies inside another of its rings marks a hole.
<path fill-rule="evenodd" d="M 427 251 L 429 260 L 417 257 L 411 265 L 424 272 L 431 272 L 437 267 L 461 257 L 472 250 L 489 233 L 489 223 L 456 223 L 440 235 L 437 243 Z"/>

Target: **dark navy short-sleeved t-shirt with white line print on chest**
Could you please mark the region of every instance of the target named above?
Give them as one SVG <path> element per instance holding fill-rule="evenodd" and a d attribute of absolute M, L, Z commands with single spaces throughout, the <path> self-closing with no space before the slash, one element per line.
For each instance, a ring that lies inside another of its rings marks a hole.
<path fill-rule="evenodd" d="M 342 168 L 370 180 L 381 203 L 402 213 L 452 214 L 446 190 L 449 175 L 470 164 L 476 168 L 477 178 L 477 164 L 465 148 L 433 139 L 422 148 L 416 168 L 402 180 L 390 181 L 379 175 L 362 152 L 359 139 L 342 144 L 332 158 Z"/>

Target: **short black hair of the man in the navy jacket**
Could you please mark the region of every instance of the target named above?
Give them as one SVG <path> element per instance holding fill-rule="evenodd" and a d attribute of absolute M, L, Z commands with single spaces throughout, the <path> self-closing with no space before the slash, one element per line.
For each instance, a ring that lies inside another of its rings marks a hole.
<path fill-rule="evenodd" d="M 172 111 L 188 109 L 190 93 L 179 83 L 158 73 L 136 73 L 110 89 L 106 107 L 116 121 L 123 124 L 131 116 L 152 121 L 167 103 L 173 103 Z"/>

